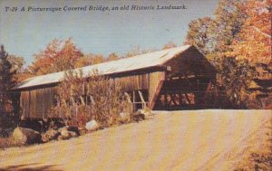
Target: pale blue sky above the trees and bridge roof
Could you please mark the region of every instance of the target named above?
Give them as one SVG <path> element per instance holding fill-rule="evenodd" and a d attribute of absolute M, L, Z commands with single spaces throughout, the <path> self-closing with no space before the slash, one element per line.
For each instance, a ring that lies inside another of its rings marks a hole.
<path fill-rule="evenodd" d="M 26 64 L 34 62 L 33 55 L 54 39 L 70 37 L 84 53 L 104 56 L 111 52 L 122 55 L 136 46 L 161 49 L 165 43 L 181 45 L 189 22 L 212 16 L 218 3 L 219 0 L 0 0 L 0 43 L 6 52 L 24 57 Z M 101 5 L 110 10 L 89 10 L 90 6 Z M 128 5 L 129 10 L 122 9 Z M 154 10 L 131 10 L 132 5 L 154 6 Z M 158 5 L 185 5 L 186 9 L 158 10 Z M 82 11 L 64 11 L 85 6 Z M 37 7 L 61 11 L 32 11 Z"/>

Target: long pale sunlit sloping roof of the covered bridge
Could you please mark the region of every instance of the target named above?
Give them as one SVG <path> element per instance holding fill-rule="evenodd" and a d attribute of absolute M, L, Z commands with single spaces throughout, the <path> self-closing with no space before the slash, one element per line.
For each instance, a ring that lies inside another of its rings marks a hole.
<path fill-rule="evenodd" d="M 176 48 L 162 50 L 158 52 L 150 52 L 131 58 L 120 59 L 112 62 L 103 62 L 95 65 L 85 66 L 74 69 L 73 71 L 83 71 L 83 77 L 87 77 L 91 71 L 98 70 L 103 75 L 111 75 L 126 71 L 138 71 L 156 66 L 163 66 L 165 62 L 180 55 L 182 52 L 191 47 L 184 45 Z M 13 90 L 20 90 L 34 86 L 41 86 L 46 84 L 53 84 L 63 80 L 65 71 L 59 71 L 29 78 L 13 88 Z"/>

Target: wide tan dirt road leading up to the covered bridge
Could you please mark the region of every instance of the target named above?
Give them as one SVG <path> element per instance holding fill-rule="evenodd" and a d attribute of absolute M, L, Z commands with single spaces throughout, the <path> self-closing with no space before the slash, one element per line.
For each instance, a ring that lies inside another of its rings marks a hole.
<path fill-rule="evenodd" d="M 160 111 L 80 138 L 0 150 L 0 170 L 231 170 L 271 119 L 271 110 Z"/>

